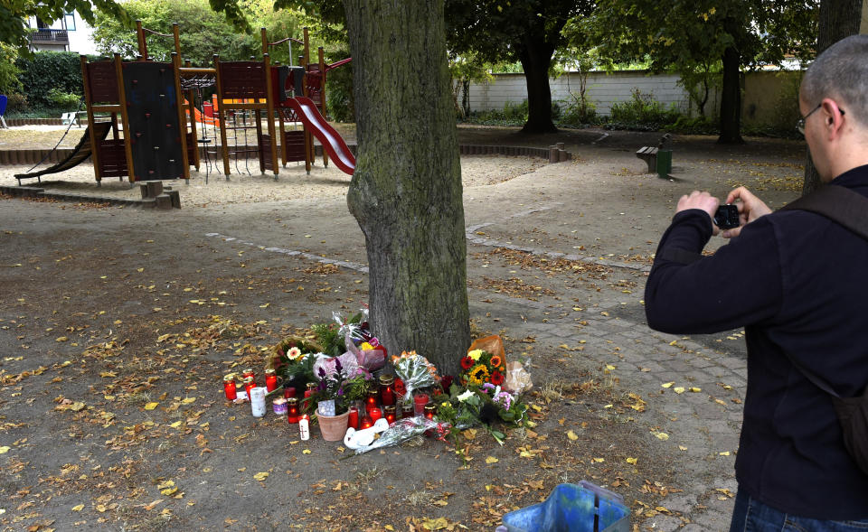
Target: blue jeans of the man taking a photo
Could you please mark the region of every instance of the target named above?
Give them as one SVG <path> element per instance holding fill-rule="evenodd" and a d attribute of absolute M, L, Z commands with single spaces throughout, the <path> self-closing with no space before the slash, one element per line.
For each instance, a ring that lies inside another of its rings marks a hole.
<path fill-rule="evenodd" d="M 739 490 L 732 510 L 730 532 L 868 532 L 868 519 L 826 521 L 799 518 L 773 509 Z"/>

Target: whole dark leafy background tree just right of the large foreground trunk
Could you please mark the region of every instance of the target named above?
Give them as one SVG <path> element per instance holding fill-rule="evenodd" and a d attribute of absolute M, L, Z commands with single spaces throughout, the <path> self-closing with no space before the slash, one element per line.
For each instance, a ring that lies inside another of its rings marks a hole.
<path fill-rule="evenodd" d="M 588 16 L 591 0 L 446 0 L 449 51 L 475 52 L 483 61 L 521 61 L 527 82 L 524 133 L 557 131 L 552 122 L 549 71 L 571 17 Z"/>

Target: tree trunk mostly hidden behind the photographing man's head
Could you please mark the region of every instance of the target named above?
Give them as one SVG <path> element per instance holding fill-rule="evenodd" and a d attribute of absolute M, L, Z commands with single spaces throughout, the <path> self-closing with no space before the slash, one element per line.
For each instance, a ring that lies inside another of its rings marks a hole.
<path fill-rule="evenodd" d="M 819 55 L 835 42 L 859 33 L 862 23 L 863 0 L 823 0 L 820 3 L 820 20 L 816 36 L 816 54 Z M 815 106 L 820 102 L 807 102 Z M 811 151 L 805 150 L 805 183 L 802 195 L 815 191 L 820 186 L 820 174 L 816 173 Z"/>

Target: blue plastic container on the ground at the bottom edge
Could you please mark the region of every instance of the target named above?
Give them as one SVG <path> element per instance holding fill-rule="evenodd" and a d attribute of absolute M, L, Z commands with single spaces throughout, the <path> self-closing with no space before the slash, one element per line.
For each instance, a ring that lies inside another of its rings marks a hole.
<path fill-rule="evenodd" d="M 545 502 L 509 512 L 504 525 L 508 532 L 629 532 L 629 519 L 618 495 L 580 481 L 559 484 Z"/>

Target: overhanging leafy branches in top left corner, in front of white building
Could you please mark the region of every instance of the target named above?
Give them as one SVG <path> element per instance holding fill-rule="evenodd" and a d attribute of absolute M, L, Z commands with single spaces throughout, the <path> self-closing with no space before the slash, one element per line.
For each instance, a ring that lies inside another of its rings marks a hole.
<path fill-rule="evenodd" d="M 95 11 L 128 22 L 127 12 L 113 0 L 3 0 L 0 2 L 0 42 L 12 44 L 28 53 L 27 19 L 36 16 L 45 23 L 63 14 L 78 12 L 90 25 L 96 23 Z"/>

